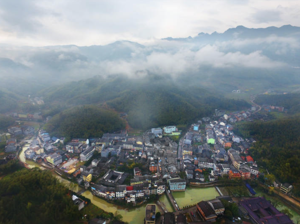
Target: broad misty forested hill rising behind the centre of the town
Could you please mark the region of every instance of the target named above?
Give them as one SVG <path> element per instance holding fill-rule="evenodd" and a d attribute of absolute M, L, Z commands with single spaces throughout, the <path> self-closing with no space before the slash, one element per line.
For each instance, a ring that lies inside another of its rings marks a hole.
<path fill-rule="evenodd" d="M 195 85 L 179 85 L 168 76 L 146 76 L 139 79 L 114 76 L 94 77 L 46 89 L 40 93 L 45 103 L 80 105 L 107 103 L 119 112 L 128 113 L 134 128 L 168 124 L 186 124 L 210 115 L 216 108 L 238 110 L 249 108 L 243 100 L 226 99 Z"/>

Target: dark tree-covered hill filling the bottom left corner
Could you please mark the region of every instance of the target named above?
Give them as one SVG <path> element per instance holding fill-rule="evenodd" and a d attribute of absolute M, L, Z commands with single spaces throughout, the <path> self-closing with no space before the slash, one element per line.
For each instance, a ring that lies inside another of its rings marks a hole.
<path fill-rule="evenodd" d="M 79 220 L 68 190 L 49 171 L 22 169 L 0 180 L 0 223 Z"/>

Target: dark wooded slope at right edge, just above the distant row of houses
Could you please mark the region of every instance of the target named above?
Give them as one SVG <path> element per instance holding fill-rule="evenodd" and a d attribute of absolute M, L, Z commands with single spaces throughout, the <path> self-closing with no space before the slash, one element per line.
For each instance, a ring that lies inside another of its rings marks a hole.
<path fill-rule="evenodd" d="M 283 106 L 289 113 L 300 112 L 300 93 L 277 94 L 277 95 L 258 95 L 255 102 L 259 105 L 270 104 L 273 106 Z"/>

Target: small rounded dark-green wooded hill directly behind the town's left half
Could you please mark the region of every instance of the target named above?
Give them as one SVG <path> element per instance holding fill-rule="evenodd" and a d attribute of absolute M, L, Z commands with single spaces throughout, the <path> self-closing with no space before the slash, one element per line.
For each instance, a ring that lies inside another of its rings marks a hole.
<path fill-rule="evenodd" d="M 103 133 L 119 131 L 125 122 L 113 111 L 97 106 L 76 106 L 55 115 L 44 129 L 51 135 L 70 138 L 101 137 Z"/>

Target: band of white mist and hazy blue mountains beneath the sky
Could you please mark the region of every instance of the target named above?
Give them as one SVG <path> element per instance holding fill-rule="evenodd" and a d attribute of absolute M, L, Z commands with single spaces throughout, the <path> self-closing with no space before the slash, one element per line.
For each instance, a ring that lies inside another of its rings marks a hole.
<path fill-rule="evenodd" d="M 174 80 L 192 77 L 211 83 L 216 77 L 229 75 L 228 69 L 233 77 L 244 76 L 241 69 L 246 70 L 250 79 L 258 73 L 263 79 L 284 71 L 295 82 L 299 48 L 300 27 L 291 25 L 258 29 L 238 26 L 221 34 L 168 37 L 144 45 L 117 41 L 105 46 L 1 46 L 0 87 L 8 89 L 15 80 L 30 79 L 34 88 L 24 89 L 30 93 L 42 86 L 111 74 L 132 78 L 156 74 Z M 238 88 L 239 83 L 234 85 Z"/>

